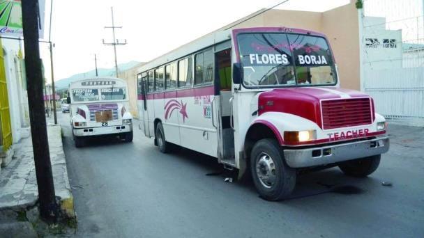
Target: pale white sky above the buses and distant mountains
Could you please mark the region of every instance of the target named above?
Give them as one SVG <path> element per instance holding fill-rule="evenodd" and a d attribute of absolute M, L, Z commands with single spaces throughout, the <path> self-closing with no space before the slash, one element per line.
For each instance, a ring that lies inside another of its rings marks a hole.
<path fill-rule="evenodd" d="M 55 80 L 98 68 L 113 68 L 114 54 L 111 7 L 114 8 L 116 38 L 127 40 L 117 47 L 118 63 L 146 62 L 191 40 L 219 29 L 262 8 L 282 0 L 53 0 L 52 41 Z M 345 5 L 349 0 L 289 0 L 278 9 L 325 11 Z M 45 29 L 48 30 L 50 0 L 46 0 Z M 301 19 L 300 19 L 301 20 Z M 48 38 L 48 31 L 45 32 Z M 46 78 L 50 78 L 47 46 L 41 47 Z"/>

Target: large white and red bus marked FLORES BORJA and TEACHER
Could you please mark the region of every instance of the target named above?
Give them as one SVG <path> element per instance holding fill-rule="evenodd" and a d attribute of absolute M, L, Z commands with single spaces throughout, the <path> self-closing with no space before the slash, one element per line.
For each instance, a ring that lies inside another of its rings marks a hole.
<path fill-rule="evenodd" d="M 139 69 L 144 134 L 250 170 L 268 200 L 287 198 L 298 171 L 339 166 L 365 177 L 388 151 L 372 98 L 340 88 L 326 36 L 263 27 L 215 32 Z"/>

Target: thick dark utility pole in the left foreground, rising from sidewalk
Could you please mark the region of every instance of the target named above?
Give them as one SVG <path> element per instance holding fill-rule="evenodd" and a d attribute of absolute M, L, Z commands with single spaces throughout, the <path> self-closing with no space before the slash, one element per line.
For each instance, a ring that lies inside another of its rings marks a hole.
<path fill-rule="evenodd" d="M 36 166 L 40 215 L 46 221 L 55 221 L 59 215 L 56 204 L 50 163 L 49 142 L 43 103 L 43 74 L 41 72 L 40 45 L 38 45 L 38 1 L 22 1 L 22 25 L 24 29 L 25 71 L 31 138 Z"/>

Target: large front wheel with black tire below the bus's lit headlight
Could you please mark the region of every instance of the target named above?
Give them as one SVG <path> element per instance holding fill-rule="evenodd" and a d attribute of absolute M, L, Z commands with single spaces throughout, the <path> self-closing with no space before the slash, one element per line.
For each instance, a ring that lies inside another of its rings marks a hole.
<path fill-rule="evenodd" d="M 264 163 L 270 163 L 271 167 L 263 166 Z M 273 182 L 264 179 L 269 171 L 274 177 Z M 296 185 L 296 170 L 287 166 L 280 145 L 273 139 L 266 138 L 255 143 L 250 154 L 250 173 L 257 191 L 266 200 L 283 200 Z"/>

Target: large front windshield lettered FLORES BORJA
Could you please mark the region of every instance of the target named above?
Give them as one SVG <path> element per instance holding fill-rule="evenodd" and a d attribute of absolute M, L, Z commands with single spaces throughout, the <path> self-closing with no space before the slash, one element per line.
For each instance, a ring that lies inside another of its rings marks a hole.
<path fill-rule="evenodd" d="M 294 33 L 238 35 L 246 87 L 334 85 L 333 57 L 324 38 Z"/>

